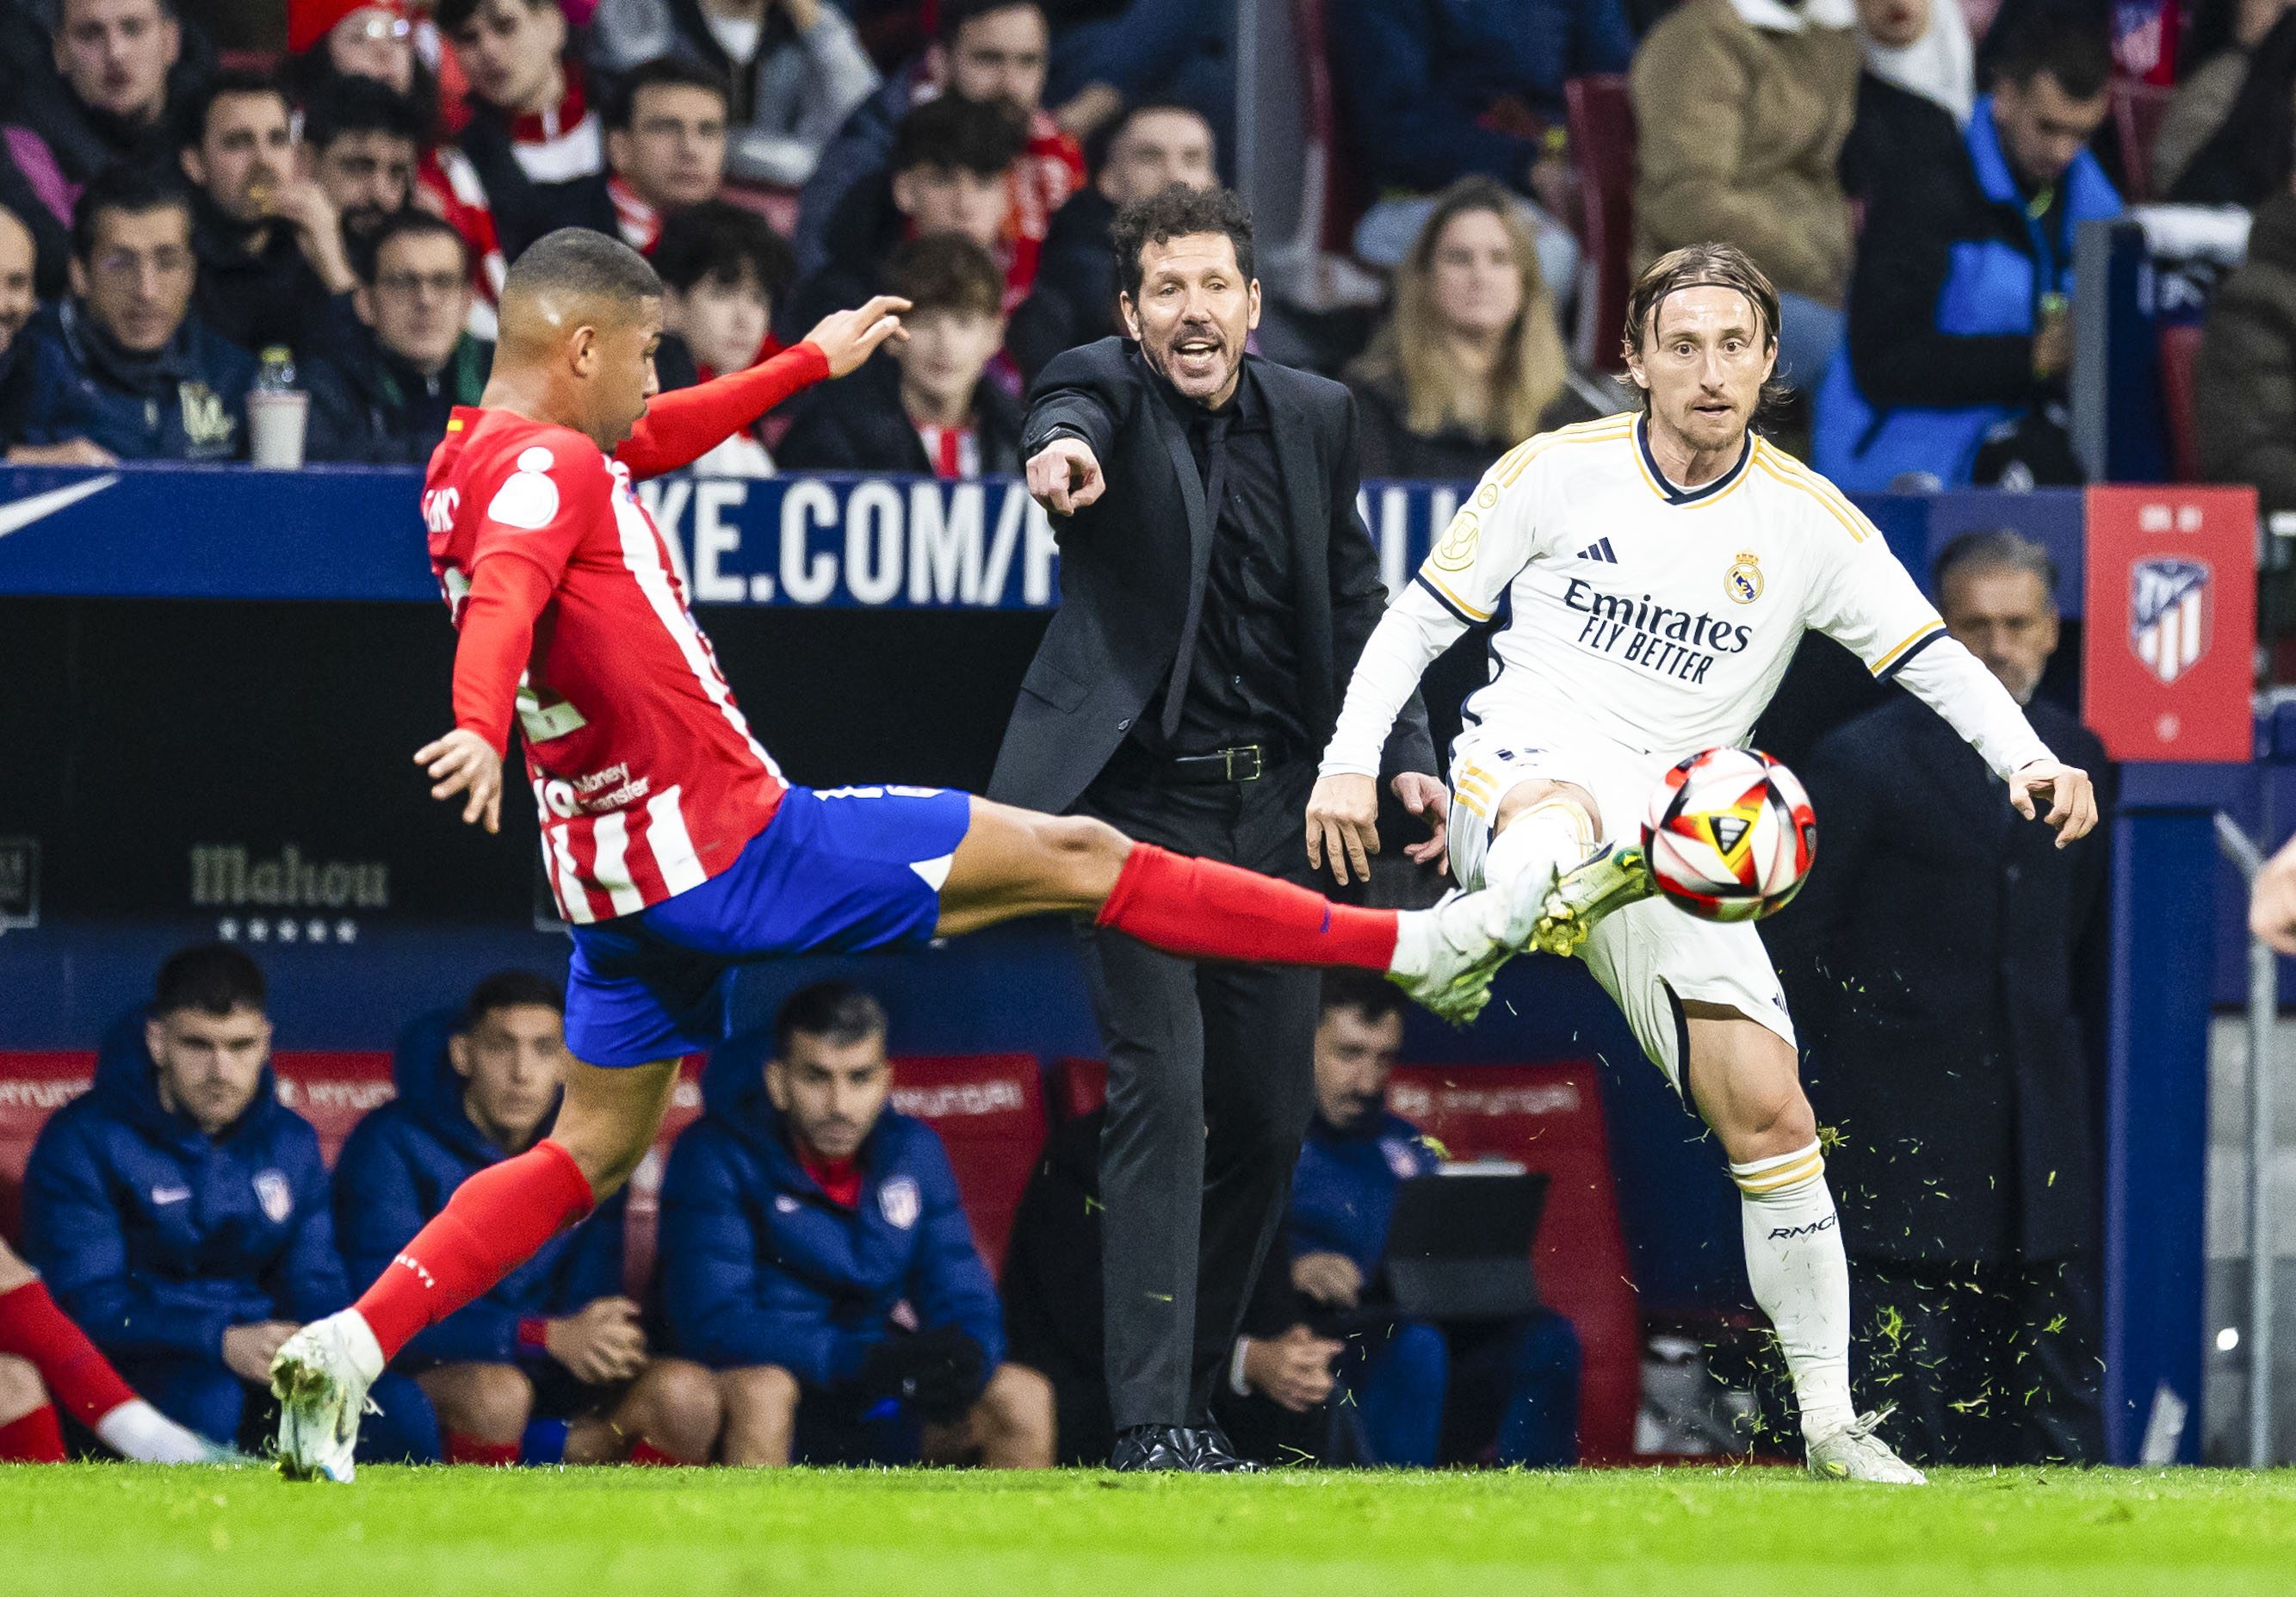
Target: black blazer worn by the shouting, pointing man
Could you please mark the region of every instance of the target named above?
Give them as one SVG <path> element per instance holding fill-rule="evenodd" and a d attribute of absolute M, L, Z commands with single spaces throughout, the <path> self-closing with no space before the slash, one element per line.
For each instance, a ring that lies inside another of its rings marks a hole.
<path fill-rule="evenodd" d="M 1130 342 L 1104 337 L 1045 367 L 1029 397 L 1022 457 L 1054 429 L 1093 445 L 1107 491 L 1054 519 L 1061 610 L 1022 677 L 990 799 L 1061 815 L 1077 803 L 1171 675 L 1192 592 L 1212 560 L 1203 477 L 1171 406 Z M 1387 608 L 1380 555 L 1355 512 L 1355 399 L 1311 372 L 1244 356 L 1267 397 L 1290 505 L 1300 714 L 1316 748 L 1339 723 L 1348 677 Z M 1414 693 L 1387 739 L 1382 776 L 1435 771 Z"/>

